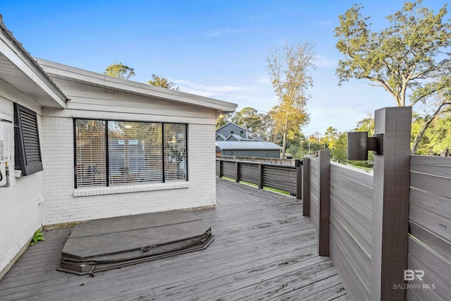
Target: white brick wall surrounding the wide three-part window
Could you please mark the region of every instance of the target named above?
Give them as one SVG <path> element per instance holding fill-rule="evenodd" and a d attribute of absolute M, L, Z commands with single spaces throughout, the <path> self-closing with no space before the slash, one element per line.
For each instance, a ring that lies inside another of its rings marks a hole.
<path fill-rule="evenodd" d="M 188 188 L 74 197 L 73 119 L 42 117 L 44 225 L 216 204 L 214 125 L 188 125 Z"/>

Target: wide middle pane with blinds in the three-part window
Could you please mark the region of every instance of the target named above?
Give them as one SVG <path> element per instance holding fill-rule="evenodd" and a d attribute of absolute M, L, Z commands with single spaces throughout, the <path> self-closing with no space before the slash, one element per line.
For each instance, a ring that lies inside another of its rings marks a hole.
<path fill-rule="evenodd" d="M 108 122 L 110 185 L 163 181 L 161 124 Z"/>

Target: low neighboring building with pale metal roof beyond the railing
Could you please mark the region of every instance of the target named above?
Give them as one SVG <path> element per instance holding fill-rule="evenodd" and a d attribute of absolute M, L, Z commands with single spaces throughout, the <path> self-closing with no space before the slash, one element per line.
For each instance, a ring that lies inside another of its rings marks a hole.
<path fill-rule="evenodd" d="M 280 158 L 282 147 L 273 142 L 257 141 L 216 141 L 218 156 L 257 156 L 260 158 Z"/>

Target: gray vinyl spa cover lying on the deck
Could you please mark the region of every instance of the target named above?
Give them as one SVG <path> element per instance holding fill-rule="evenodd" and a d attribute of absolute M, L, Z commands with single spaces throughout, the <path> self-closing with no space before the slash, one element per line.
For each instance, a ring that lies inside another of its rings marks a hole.
<path fill-rule="evenodd" d="M 97 271 L 203 250 L 212 240 L 210 226 L 190 211 L 96 219 L 73 228 L 59 270 L 94 276 Z"/>

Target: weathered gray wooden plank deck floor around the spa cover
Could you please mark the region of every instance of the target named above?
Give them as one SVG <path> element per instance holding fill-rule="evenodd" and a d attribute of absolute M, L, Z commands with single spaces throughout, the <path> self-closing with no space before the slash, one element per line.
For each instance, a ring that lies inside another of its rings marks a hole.
<path fill-rule="evenodd" d="M 56 271 L 70 229 L 49 231 L 0 281 L 0 300 L 348 300 L 295 197 L 217 180 L 203 251 L 98 273 Z"/>

